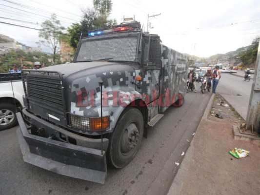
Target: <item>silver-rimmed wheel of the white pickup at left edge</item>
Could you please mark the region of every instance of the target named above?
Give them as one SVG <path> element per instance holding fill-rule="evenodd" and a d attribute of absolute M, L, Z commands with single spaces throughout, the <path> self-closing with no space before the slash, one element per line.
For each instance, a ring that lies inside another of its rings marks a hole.
<path fill-rule="evenodd" d="M 0 103 L 0 131 L 17 125 L 15 106 L 10 103 Z"/>

